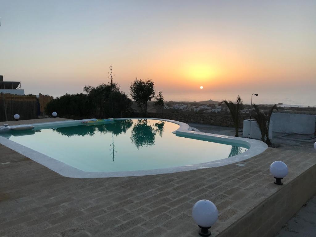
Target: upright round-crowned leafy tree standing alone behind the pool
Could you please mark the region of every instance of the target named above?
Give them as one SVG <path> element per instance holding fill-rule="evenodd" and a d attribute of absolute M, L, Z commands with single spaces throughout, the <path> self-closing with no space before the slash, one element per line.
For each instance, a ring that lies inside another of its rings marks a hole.
<path fill-rule="evenodd" d="M 132 99 L 137 103 L 137 106 L 143 110 L 144 115 L 147 113 L 147 101 L 155 97 L 154 82 L 138 79 L 137 77 L 131 83 L 130 92 Z"/>

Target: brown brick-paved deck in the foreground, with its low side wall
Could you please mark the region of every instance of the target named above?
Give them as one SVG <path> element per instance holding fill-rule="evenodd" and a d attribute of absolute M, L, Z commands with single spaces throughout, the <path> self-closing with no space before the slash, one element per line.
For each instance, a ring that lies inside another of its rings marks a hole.
<path fill-rule="evenodd" d="M 274 185 L 269 173 L 276 160 L 289 167 L 282 186 Z M 268 148 L 241 163 L 244 166 L 76 179 L 0 145 L 0 236 L 198 236 L 191 209 L 200 199 L 211 200 L 219 210 L 212 236 L 232 236 L 238 228 L 234 236 L 273 236 L 287 221 L 271 223 L 273 197 L 284 196 L 284 202 L 292 204 L 285 194 L 290 188 L 308 188 L 307 182 L 298 185 L 297 180 L 310 178 L 304 173 L 315 167 L 316 155 Z M 309 197 L 293 198 L 299 203 Z M 249 225 L 240 227 L 243 221 Z M 251 221 L 258 223 L 257 229 Z"/>

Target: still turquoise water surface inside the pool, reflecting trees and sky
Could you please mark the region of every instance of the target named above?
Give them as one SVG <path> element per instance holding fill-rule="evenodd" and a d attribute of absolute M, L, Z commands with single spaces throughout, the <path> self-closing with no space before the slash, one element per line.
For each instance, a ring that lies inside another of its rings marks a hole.
<path fill-rule="evenodd" d="M 154 119 L 112 124 L 35 128 L 9 140 L 86 172 L 178 167 L 221 160 L 247 150 L 238 144 L 176 136 L 179 125 Z"/>

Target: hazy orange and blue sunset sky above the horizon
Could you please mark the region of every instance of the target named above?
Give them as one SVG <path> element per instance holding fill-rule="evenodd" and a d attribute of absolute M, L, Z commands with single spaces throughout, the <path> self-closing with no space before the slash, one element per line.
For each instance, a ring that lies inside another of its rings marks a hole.
<path fill-rule="evenodd" d="M 80 93 L 112 64 L 127 94 L 138 77 L 166 100 L 316 105 L 316 1 L 0 0 L 0 17 L 0 75 L 26 94 Z"/>

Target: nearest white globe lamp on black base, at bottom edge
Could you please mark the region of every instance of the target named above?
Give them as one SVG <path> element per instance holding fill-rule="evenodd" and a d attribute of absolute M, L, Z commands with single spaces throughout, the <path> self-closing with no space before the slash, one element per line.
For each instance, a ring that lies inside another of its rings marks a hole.
<path fill-rule="evenodd" d="M 210 228 L 217 221 L 218 210 L 214 203 L 209 200 L 197 201 L 192 208 L 193 220 L 201 228 L 198 232 L 200 236 L 210 236 Z"/>

